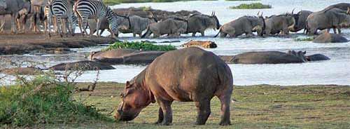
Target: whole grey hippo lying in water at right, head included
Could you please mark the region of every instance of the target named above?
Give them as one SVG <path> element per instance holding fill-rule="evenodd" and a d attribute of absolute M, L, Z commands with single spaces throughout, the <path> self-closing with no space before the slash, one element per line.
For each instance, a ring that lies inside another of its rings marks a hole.
<path fill-rule="evenodd" d="M 238 55 L 221 55 L 221 59 L 229 64 L 287 64 L 308 61 L 329 60 L 321 54 L 305 56 L 306 51 L 289 50 L 288 53 L 279 51 L 254 51 Z"/>

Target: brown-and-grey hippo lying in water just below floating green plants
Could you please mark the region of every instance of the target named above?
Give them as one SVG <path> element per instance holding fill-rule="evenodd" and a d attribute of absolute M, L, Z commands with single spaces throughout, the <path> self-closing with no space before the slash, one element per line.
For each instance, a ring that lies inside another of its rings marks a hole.
<path fill-rule="evenodd" d="M 149 64 L 165 51 L 141 51 L 131 49 L 115 49 L 92 52 L 90 60 L 107 64 Z"/>

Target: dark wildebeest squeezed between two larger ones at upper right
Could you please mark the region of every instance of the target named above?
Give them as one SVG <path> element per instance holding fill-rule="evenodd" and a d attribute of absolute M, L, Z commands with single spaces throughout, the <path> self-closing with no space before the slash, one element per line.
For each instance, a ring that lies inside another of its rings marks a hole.
<path fill-rule="evenodd" d="M 311 13 L 311 11 L 299 11 L 298 13 L 294 14 L 292 11 L 292 16 L 295 19 L 295 24 L 293 28 L 290 29 L 290 32 L 299 32 L 302 29 L 304 29 L 305 32 L 306 20 Z"/>

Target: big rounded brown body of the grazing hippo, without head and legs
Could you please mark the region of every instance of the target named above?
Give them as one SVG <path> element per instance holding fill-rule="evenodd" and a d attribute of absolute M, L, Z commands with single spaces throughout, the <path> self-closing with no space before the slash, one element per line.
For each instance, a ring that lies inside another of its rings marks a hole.
<path fill-rule="evenodd" d="M 218 90 L 232 91 L 233 80 L 230 68 L 220 57 L 190 47 L 157 57 L 147 68 L 146 83 L 151 89 L 165 90 L 173 100 L 196 101 L 203 95 L 213 96 Z"/>

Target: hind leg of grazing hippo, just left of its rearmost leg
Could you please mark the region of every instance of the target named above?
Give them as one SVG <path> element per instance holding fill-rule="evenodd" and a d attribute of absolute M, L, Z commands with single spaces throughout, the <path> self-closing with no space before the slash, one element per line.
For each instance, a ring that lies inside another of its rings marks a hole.
<path fill-rule="evenodd" d="M 199 102 L 195 102 L 195 105 L 197 107 L 197 125 L 204 125 L 208 117 L 211 113 L 210 111 L 210 100 L 211 99 L 206 99 L 206 100 L 200 100 Z"/>

